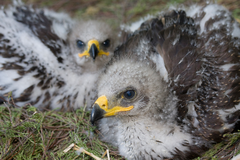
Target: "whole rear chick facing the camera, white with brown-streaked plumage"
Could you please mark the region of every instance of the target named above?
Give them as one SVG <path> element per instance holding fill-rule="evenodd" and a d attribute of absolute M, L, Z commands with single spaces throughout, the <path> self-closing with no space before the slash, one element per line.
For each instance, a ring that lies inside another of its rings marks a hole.
<path fill-rule="evenodd" d="M 0 18 L 1 97 L 12 92 L 18 106 L 39 109 L 91 105 L 116 45 L 107 24 L 22 5 L 2 8 Z"/>

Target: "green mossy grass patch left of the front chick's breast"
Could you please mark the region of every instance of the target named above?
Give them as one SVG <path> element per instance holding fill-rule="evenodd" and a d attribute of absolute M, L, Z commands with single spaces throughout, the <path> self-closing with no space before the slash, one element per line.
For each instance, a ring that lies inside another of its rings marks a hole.
<path fill-rule="evenodd" d="M 73 149 L 63 153 L 72 143 L 101 157 L 108 147 L 93 137 L 95 127 L 90 125 L 89 112 L 84 109 L 41 112 L 31 106 L 0 108 L 0 122 L 4 122 L 0 123 L 2 159 L 73 159 L 77 156 Z"/>

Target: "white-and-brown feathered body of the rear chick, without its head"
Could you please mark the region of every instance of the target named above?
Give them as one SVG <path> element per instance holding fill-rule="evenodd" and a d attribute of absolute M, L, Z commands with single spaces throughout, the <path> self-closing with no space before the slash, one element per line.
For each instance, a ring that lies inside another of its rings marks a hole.
<path fill-rule="evenodd" d="M 98 74 L 83 74 L 70 54 L 68 16 L 10 7 L 0 10 L 0 18 L 2 97 L 12 91 L 17 105 L 31 103 L 40 109 L 92 103 Z"/>

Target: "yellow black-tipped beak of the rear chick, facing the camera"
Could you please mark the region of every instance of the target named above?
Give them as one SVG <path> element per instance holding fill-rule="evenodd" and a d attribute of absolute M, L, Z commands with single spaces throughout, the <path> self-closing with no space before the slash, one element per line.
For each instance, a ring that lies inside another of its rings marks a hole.
<path fill-rule="evenodd" d="M 86 57 L 92 57 L 94 60 L 99 55 L 109 55 L 109 52 L 104 52 L 103 50 L 100 50 L 99 42 L 95 39 L 88 41 L 88 47 L 87 50 L 85 50 L 83 53 L 79 53 L 78 56 L 81 58 L 83 56 Z"/>

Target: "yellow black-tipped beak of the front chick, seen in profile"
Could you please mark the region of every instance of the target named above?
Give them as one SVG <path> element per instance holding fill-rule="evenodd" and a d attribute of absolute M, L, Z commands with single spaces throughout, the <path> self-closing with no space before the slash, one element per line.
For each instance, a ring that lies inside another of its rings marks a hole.
<path fill-rule="evenodd" d="M 115 116 L 118 112 L 130 111 L 132 109 L 133 106 L 129 107 L 115 106 L 113 108 L 109 108 L 107 97 L 103 95 L 99 97 L 93 105 L 91 113 L 91 122 L 94 123 L 95 121 L 103 117 Z"/>

